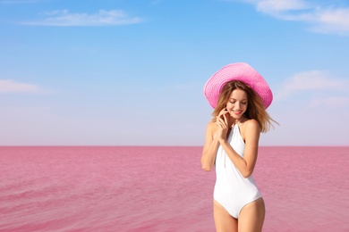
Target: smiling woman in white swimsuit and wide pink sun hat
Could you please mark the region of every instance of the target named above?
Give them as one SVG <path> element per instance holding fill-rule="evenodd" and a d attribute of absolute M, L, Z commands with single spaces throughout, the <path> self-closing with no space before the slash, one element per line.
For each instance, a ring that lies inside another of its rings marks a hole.
<path fill-rule="evenodd" d="M 252 172 L 260 132 L 272 120 L 266 109 L 273 95 L 267 82 L 249 64 L 239 62 L 218 70 L 204 94 L 215 109 L 203 147 L 203 170 L 216 168 L 214 220 L 217 231 L 261 231 L 265 205 Z"/>

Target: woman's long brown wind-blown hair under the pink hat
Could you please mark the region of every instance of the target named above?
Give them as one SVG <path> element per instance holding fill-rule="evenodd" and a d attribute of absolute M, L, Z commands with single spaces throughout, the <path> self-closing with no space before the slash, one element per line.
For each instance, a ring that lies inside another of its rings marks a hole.
<path fill-rule="evenodd" d="M 268 112 L 266 111 L 260 95 L 257 95 L 251 87 L 247 86 L 243 81 L 232 80 L 226 82 L 226 85 L 222 88 L 222 91 L 218 98 L 218 103 L 216 109 L 212 112 L 213 120 L 216 120 L 219 112 L 221 112 L 225 107 L 226 103 L 229 100 L 230 95 L 235 89 L 243 90 L 247 95 L 247 109 L 244 112 L 244 115 L 248 119 L 257 120 L 260 125 L 260 131 L 265 133 L 268 131 L 270 126 L 272 126 L 271 121 L 277 123 L 273 120 Z"/>

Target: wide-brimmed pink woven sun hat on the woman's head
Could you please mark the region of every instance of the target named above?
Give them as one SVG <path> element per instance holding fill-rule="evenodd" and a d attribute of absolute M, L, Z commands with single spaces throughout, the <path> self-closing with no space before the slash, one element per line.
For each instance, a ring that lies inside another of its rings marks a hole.
<path fill-rule="evenodd" d="M 222 88 L 226 85 L 226 82 L 231 80 L 243 81 L 243 83 L 251 87 L 256 94 L 260 95 L 265 109 L 273 101 L 270 87 L 260 73 L 245 62 L 235 62 L 226 65 L 213 74 L 203 88 L 204 95 L 213 108 L 217 106 Z"/>

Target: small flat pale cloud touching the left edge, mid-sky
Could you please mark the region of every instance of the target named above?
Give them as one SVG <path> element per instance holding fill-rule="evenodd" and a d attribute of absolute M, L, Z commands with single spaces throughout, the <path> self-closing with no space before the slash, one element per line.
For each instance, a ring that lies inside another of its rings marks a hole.
<path fill-rule="evenodd" d="M 14 82 L 11 79 L 0 79 L 0 94 L 7 93 L 38 93 L 39 87 L 27 83 Z"/>

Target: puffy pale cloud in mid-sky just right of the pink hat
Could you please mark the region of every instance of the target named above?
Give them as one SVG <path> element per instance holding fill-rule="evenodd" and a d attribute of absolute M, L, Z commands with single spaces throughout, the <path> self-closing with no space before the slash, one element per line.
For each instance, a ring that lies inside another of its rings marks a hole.
<path fill-rule="evenodd" d="M 332 79 L 327 72 L 321 70 L 300 72 L 286 82 L 285 86 L 277 92 L 276 98 L 284 98 L 307 90 L 343 91 L 345 83 L 339 79 Z"/>

